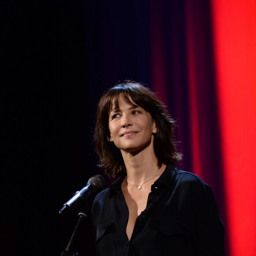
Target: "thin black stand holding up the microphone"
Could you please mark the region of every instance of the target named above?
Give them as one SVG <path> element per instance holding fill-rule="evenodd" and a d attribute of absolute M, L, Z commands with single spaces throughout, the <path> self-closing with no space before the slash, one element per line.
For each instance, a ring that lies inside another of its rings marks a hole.
<path fill-rule="evenodd" d="M 74 241 L 74 238 L 75 238 L 75 235 L 79 229 L 79 226 L 81 225 L 82 221 L 87 217 L 87 213 L 88 213 L 88 210 L 89 210 L 89 206 L 88 206 L 88 203 L 86 202 L 80 209 L 79 213 L 78 213 L 78 222 L 75 226 L 75 230 L 73 231 L 72 233 L 72 236 L 68 242 L 68 245 L 67 245 L 67 248 L 65 251 L 62 251 L 61 252 L 61 255 L 60 256 L 79 256 L 79 253 L 78 252 L 71 252 L 70 251 L 70 248 L 71 248 L 71 245 L 72 245 L 72 242 Z"/>

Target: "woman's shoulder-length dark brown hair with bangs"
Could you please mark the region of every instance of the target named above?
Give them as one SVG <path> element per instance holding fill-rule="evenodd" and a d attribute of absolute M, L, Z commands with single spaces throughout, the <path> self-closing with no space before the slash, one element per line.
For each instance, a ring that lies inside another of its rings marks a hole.
<path fill-rule="evenodd" d="M 99 167 L 110 177 L 119 177 L 126 174 L 124 160 L 120 149 L 113 142 L 108 141 L 109 113 L 113 104 L 118 108 L 119 95 L 124 96 L 125 101 L 145 109 L 156 122 L 157 133 L 154 135 L 154 152 L 158 158 L 158 166 L 162 163 L 169 164 L 181 160 L 181 153 L 177 151 L 174 139 L 175 120 L 166 110 L 166 106 L 160 101 L 156 93 L 143 83 L 132 80 L 124 80 L 105 91 L 98 102 L 96 127 L 94 131 L 95 151 L 99 156 Z"/>

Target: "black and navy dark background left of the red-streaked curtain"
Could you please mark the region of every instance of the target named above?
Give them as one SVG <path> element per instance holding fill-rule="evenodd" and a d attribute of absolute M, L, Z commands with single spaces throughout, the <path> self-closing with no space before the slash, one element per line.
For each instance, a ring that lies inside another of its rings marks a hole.
<path fill-rule="evenodd" d="M 58 256 L 79 212 L 60 208 L 102 174 L 92 141 L 98 98 L 123 79 L 150 86 L 147 5 L 3 0 L 0 9 L 0 255 Z M 71 250 L 95 255 L 90 213 Z"/>

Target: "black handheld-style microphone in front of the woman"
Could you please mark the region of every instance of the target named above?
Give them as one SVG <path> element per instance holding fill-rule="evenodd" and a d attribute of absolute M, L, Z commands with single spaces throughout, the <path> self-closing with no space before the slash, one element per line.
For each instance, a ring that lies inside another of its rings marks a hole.
<path fill-rule="evenodd" d="M 83 187 L 80 191 L 75 192 L 67 203 L 64 203 L 63 207 L 60 209 L 59 214 L 62 215 L 66 212 L 74 210 L 80 203 L 85 202 L 94 192 L 102 189 L 105 185 L 105 178 L 97 174 L 90 177 L 87 185 Z"/>

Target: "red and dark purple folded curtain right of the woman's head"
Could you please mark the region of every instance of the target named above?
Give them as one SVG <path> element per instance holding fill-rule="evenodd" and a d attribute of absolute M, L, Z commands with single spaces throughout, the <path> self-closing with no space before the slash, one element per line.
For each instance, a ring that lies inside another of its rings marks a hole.
<path fill-rule="evenodd" d="M 255 256 L 256 1 L 150 3 L 152 87 L 179 119 L 183 169 L 213 188 L 226 255 Z"/>

